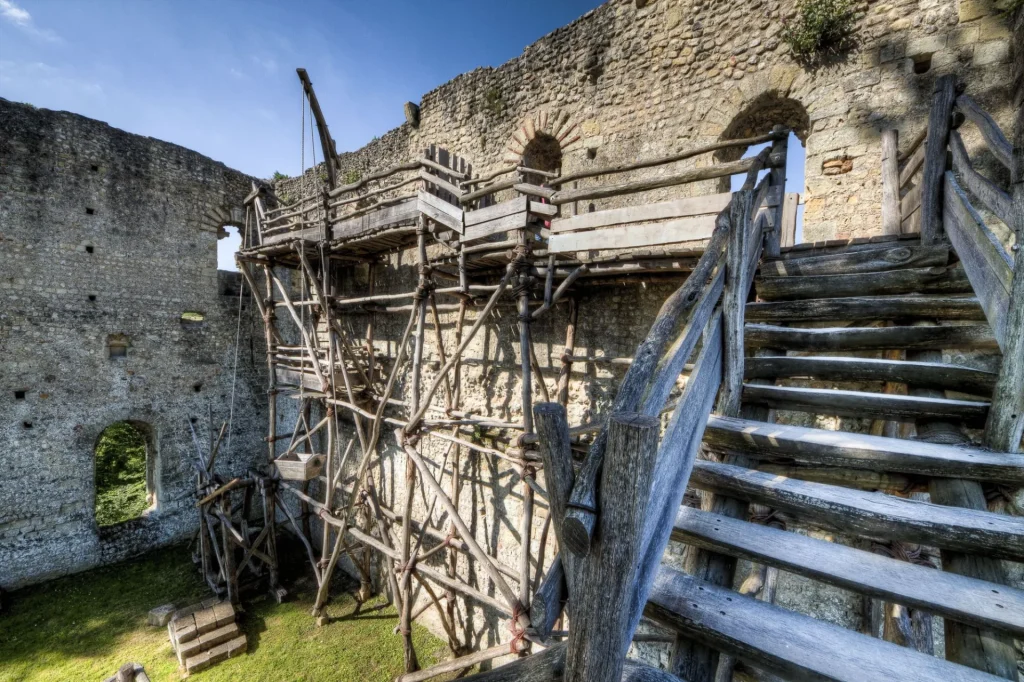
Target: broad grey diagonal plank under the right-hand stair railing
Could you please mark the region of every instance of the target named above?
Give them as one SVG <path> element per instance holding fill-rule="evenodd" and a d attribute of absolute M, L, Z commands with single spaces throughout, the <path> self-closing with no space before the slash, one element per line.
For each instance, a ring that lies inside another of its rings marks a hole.
<path fill-rule="evenodd" d="M 946 173 L 944 208 L 943 227 L 1001 346 L 1010 306 L 1013 262 L 968 203 L 951 172 Z"/>

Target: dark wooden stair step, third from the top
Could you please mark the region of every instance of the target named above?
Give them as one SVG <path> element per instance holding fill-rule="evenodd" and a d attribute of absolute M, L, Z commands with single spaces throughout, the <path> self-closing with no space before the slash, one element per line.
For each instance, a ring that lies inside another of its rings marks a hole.
<path fill-rule="evenodd" d="M 985 311 L 973 296 L 847 296 L 748 303 L 749 322 L 833 319 L 972 319 Z"/>

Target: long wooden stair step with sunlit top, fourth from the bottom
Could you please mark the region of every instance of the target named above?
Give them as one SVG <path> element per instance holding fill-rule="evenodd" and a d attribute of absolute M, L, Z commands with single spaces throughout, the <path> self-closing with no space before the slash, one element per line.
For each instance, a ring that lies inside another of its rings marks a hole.
<path fill-rule="evenodd" d="M 703 442 L 713 452 L 756 459 L 1024 485 L 1024 455 L 920 440 L 826 431 L 711 416 Z"/>

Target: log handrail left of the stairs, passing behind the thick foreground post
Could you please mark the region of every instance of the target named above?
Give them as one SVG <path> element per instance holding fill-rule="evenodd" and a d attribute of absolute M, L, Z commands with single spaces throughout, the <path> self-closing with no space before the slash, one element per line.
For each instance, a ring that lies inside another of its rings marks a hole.
<path fill-rule="evenodd" d="M 698 335 L 698 330 L 702 329 L 702 326 L 688 325 L 687 323 L 692 321 L 687 318 L 687 313 L 698 307 L 699 300 L 709 300 L 707 295 L 701 298 L 700 292 L 709 280 L 714 282 L 713 275 L 719 268 L 728 231 L 728 221 L 722 216 L 703 255 L 700 256 L 689 278 L 662 304 L 650 331 L 637 347 L 633 363 L 620 384 L 613 410 L 627 412 L 643 407 L 645 414 L 654 415 L 660 412 L 669 396 L 666 387 L 671 389 L 674 385 L 689 354 L 682 351 L 686 349 L 688 340 L 694 339 Z M 721 279 L 716 279 L 721 282 Z M 670 343 L 673 344 L 673 349 L 666 353 Z M 667 377 L 671 377 L 671 381 L 667 380 Z M 656 384 L 659 389 L 654 392 L 649 391 L 651 383 Z M 565 512 L 562 524 L 565 549 L 578 555 L 586 555 L 590 549 L 597 475 L 604 457 L 605 439 L 604 431 L 597 435 L 587 459 L 577 472 L 572 495 L 569 498 L 570 507 Z"/>

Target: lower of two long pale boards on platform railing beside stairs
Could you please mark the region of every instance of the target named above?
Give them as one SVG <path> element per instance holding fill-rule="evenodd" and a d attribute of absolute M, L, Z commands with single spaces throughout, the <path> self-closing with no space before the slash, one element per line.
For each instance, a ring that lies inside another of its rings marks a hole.
<path fill-rule="evenodd" d="M 649 222 L 607 227 L 586 232 L 562 232 L 548 239 L 550 253 L 597 249 L 631 249 L 659 244 L 694 242 L 711 238 L 717 215 L 678 218 L 665 222 Z"/>

